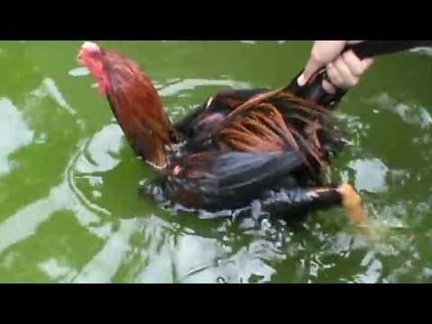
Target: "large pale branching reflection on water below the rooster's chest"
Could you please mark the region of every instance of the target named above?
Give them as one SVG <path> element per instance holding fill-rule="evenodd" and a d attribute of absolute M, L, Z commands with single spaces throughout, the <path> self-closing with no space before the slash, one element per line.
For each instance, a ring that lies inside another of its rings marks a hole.
<path fill-rule="evenodd" d="M 135 277 L 128 277 L 136 283 L 205 283 L 216 282 L 217 278 L 224 282 L 246 283 L 252 277 L 260 282 L 271 279 L 275 270 L 266 265 L 266 260 L 277 260 L 280 257 L 275 253 L 280 252 L 273 252 L 277 247 L 266 240 L 252 241 L 233 252 L 227 245 L 232 238 L 228 241 L 204 238 L 191 234 L 193 229 L 183 229 L 178 236 L 170 237 L 173 226 L 156 215 L 144 221 L 120 220 L 116 229 L 112 228 L 114 220 L 101 223 L 101 217 L 111 212 L 98 206 L 89 191 L 80 188 L 76 180 L 85 177 L 91 187 L 103 192 L 103 177 L 120 163 L 120 158 L 115 156 L 121 154 L 122 139 L 120 127 L 108 124 L 92 139 L 85 140 L 71 157 L 61 184 L 47 197 L 28 204 L 0 223 L 0 252 L 37 235 L 40 225 L 56 211 L 70 210 L 81 226 L 104 240 L 103 247 L 80 270 L 68 268 L 52 258 L 41 262 L 40 270 L 51 280 L 109 283 L 130 254 L 139 256 L 139 270 Z M 142 248 L 131 245 L 130 239 L 136 233 L 149 243 Z"/>

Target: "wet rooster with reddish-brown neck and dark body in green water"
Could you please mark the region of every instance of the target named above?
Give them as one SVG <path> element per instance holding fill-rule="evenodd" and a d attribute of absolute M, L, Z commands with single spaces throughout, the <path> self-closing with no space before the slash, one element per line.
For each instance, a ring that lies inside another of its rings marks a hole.
<path fill-rule="evenodd" d="M 342 145 L 331 125 L 338 97 L 323 93 L 322 71 L 302 89 L 220 92 L 173 124 L 151 80 L 129 58 L 85 42 L 78 59 L 97 79 L 130 146 L 160 174 L 166 200 L 213 215 L 259 212 L 285 220 L 343 205 L 351 220 L 365 224 L 350 184 L 321 183 Z"/>

